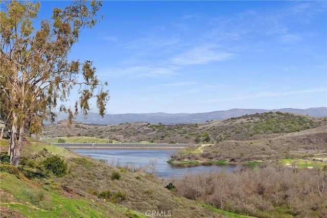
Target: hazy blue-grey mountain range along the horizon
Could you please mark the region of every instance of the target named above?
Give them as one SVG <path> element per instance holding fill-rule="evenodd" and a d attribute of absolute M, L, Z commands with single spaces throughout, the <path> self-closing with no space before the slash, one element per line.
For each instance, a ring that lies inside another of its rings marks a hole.
<path fill-rule="evenodd" d="M 327 116 L 327 107 L 295 109 L 282 108 L 273 110 L 264 109 L 230 109 L 224 111 L 213 111 L 206 113 L 124 113 L 124 114 L 106 114 L 101 117 L 99 114 L 90 112 L 85 118 L 79 114 L 76 117 L 77 122 L 98 124 L 98 125 L 113 125 L 131 122 L 147 122 L 147 123 L 162 123 L 162 124 L 186 124 L 200 123 L 210 120 L 227 119 L 230 117 L 239 117 L 246 114 L 264 113 L 264 112 L 289 112 L 301 115 L 309 115 L 314 117 Z M 59 114 L 56 120 L 66 119 L 66 114 Z"/>

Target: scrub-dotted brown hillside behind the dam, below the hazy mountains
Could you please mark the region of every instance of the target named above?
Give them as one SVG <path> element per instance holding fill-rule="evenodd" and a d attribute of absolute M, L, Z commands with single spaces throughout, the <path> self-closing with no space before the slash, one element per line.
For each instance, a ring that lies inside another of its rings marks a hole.
<path fill-rule="evenodd" d="M 244 115 L 237 118 L 192 124 L 125 123 L 112 126 L 66 122 L 45 126 L 41 137 L 91 136 L 119 142 L 199 143 L 224 140 L 255 140 L 313 129 L 327 124 L 327 117 L 282 112 Z"/>

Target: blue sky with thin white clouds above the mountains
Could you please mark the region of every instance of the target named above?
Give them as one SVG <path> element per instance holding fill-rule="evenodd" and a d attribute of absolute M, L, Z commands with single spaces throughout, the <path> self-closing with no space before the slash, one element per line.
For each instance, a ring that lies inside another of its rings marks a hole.
<path fill-rule="evenodd" d="M 70 57 L 108 81 L 107 113 L 327 106 L 325 1 L 104 1 L 100 14 Z"/>

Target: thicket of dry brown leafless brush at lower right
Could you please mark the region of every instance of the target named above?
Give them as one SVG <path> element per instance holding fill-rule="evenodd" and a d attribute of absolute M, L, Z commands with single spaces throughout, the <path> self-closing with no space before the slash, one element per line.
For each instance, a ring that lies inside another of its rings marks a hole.
<path fill-rule="evenodd" d="M 172 180 L 180 196 L 256 217 L 327 217 L 327 168 L 265 164 Z"/>

